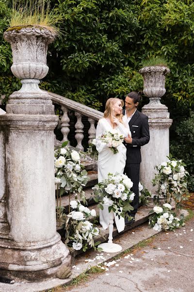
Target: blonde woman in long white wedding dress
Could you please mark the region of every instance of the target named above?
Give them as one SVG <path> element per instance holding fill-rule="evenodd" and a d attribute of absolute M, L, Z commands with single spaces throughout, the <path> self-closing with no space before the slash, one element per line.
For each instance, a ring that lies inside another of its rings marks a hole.
<path fill-rule="evenodd" d="M 113 154 L 111 149 L 106 143 L 102 142 L 99 138 L 106 131 L 116 129 L 119 134 L 124 134 L 125 137 L 128 134 L 131 136 L 129 124 L 123 121 L 122 115 L 122 100 L 118 98 L 109 98 L 106 102 L 104 117 L 98 121 L 96 132 L 96 147 L 98 151 L 98 183 L 104 181 L 108 177 L 108 173 L 123 174 L 126 163 L 126 147 L 121 144 L 117 147 L 118 153 Z M 99 221 L 103 229 L 107 229 L 109 226 L 109 210 L 108 206 L 103 206 L 103 210 L 99 210 Z M 121 232 L 125 228 L 125 220 L 123 217 L 118 217 L 114 214 L 114 219 L 118 232 Z"/>

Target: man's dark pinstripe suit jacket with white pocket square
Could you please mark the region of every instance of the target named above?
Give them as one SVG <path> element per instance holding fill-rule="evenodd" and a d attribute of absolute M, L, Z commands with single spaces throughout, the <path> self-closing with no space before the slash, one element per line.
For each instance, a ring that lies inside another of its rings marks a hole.
<path fill-rule="evenodd" d="M 123 114 L 125 115 L 125 110 L 123 110 Z M 124 141 L 124 145 L 127 148 L 126 164 L 141 163 L 141 146 L 149 142 L 148 117 L 139 110 L 136 110 L 129 121 L 129 128 L 131 131 L 132 144 Z"/>

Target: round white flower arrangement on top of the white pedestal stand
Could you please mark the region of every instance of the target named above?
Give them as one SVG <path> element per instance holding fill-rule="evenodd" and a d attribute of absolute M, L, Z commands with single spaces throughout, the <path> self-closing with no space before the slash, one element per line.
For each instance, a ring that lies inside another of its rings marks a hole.
<path fill-rule="evenodd" d="M 107 180 L 98 183 L 93 187 L 94 200 L 98 207 L 103 210 L 103 205 L 109 207 L 109 212 L 113 210 L 118 217 L 124 217 L 127 211 L 133 210 L 130 202 L 133 201 L 135 194 L 130 191 L 133 183 L 127 175 L 116 173 L 108 174 Z"/>

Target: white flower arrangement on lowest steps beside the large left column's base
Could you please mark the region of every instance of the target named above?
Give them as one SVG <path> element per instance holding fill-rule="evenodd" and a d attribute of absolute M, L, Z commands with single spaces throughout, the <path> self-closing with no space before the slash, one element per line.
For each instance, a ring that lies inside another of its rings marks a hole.
<path fill-rule="evenodd" d="M 63 214 L 65 219 L 65 244 L 71 250 L 83 250 L 85 252 L 88 246 L 94 247 L 100 243 L 95 243 L 94 238 L 98 236 L 99 229 L 95 223 L 91 223 L 89 219 L 96 216 L 96 211 L 85 207 L 79 200 L 70 201 L 71 209 L 68 215 Z M 96 222 L 93 219 L 93 222 Z"/>

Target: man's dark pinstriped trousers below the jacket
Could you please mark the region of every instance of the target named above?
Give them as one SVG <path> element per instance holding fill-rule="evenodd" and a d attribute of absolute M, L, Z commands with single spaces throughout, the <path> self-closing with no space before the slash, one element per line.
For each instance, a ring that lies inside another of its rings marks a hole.
<path fill-rule="evenodd" d="M 129 179 L 133 182 L 131 191 L 135 193 L 135 197 L 131 202 L 134 210 L 130 212 L 130 216 L 135 216 L 138 206 L 139 206 L 139 176 L 140 176 L 140 163 L 126 164 L 124 169 L 124 174 L 126 174 Z"/>

